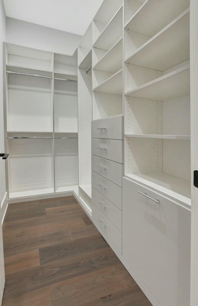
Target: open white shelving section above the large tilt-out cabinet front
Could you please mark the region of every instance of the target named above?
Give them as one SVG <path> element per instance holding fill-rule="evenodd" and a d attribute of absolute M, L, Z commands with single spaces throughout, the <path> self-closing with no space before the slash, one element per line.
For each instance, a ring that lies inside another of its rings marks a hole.
<path fill-rule="evenodd" d="M 125 1 L 124 12 L 125 176 L 184 205 L 191 197 L 189 6 Z"/>

